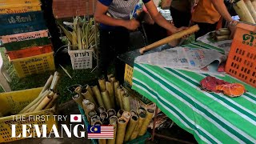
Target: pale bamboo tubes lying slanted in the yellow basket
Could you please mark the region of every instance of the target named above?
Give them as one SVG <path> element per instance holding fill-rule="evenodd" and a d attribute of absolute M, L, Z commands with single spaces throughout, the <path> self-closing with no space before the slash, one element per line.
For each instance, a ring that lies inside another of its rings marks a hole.
<path fill-rule="evenodd" d="M 59 78 L 60 75 L 57 71 L 54 73 L 54 75 L 50 75 L 50 78 L 48 78 L 45 86 L 42 88 L 41 93 L 38 95 L 38 98 L 35 98 L 33 102 L 30 102 L 30 104 L 21 110 L 18 114 L 24 114 L 38 110 L 46 110 L 53 107 L 59 96 L 59 94 L 56 92 L 56 86 L 58 84 Z"/>

